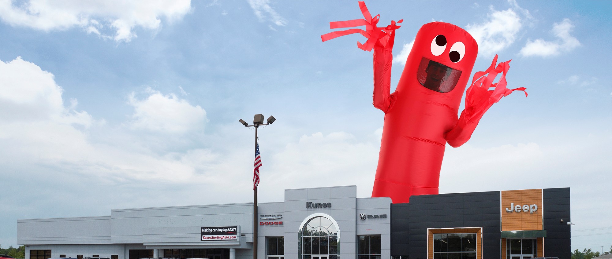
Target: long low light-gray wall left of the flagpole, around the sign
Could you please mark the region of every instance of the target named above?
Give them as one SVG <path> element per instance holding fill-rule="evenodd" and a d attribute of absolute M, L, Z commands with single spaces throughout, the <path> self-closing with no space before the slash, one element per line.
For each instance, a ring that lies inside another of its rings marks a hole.
<path fill-rule="evenodd" d="M 149 248 L 196 248 L 209 244 L 210 248 L 250 249 L 252 245 L 247 242 L 253 242 L 252 210 L 253 203 L 234 203 L 112 210 L 111 216 L 101 217 L 20 219 L 17 243 L 143 244 Z M 234 225 L 244 235 L 239 241 L 200 241 L 200 227 Z M 81 254 L 87 254 L 86 248 L 84 251 Z M 52 252 L 56 254 L 56 249 Z"/>

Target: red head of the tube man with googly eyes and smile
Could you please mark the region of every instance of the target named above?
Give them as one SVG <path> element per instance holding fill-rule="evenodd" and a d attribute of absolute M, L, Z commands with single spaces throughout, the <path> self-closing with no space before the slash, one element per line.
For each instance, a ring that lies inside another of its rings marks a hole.
<path fill-rule="evenodd" d="M 428 23 L 417 33 L 405 70 L 413 70 L 408 73 L 416 74 L 422 86 L 436 92 L 448 93 L 462 85 L 462 95 L 477 53 L 476 40 L 464 29 L 450 23 Z"/>

